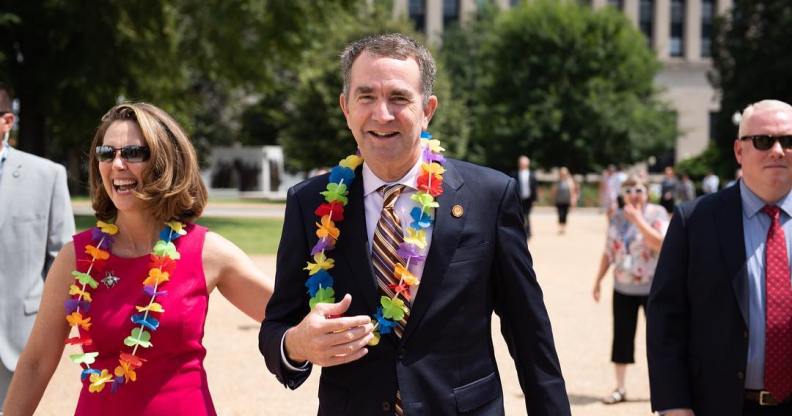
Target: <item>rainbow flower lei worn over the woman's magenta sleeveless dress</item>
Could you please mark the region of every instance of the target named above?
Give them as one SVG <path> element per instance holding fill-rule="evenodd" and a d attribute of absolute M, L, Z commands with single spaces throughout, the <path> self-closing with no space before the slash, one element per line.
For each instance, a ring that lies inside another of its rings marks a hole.
<path fill-rule="evenodd" d="M 148 276 L 143 280 L 143 292 L 148 296 L 148 302 L 145 306 L 135 306 L 137 314 L 132 315 L 132 323 L 135 327 L 128 337 L 124 339 L 124 345 L 132 348 L 131 352 L 121 352 L 118 357 L 118 366 L 111 374 L 107 369 L 92 368 L 91 364 L 96 362 L 99 356 L 98 352 L 83 352 L 81 354 L 72 354 L 69 356 L 75 364 L 85 365 L 80 375 L 81 380 L 86 378 L 90 379 L 88 391 L 91 393 L 101 392 L 105 384 L 111 383 L 111 391 L 116 392 L 118 388 L 130 381 L 137 379 L 135 370 L 140 368 L 145 359 L 135 355 L 138 347 L 150 348 L 153 346 L 151 343 L 151 331 L 156 331 L 159 327 L 159 320 L 152 316 L 153 313 L 162 314 L 165 309 L 162 305 L 156 302 L 157 297 L 166 296 L 166 290 L 159 290 L 159 287 L 170 279 L 173 269 L 176 266 L 176 260 L 181 257 L 179 252 L 176 251 L 176 246 L 173 240 L 187 234 L 184 224 L 178 221 L 171 221 L 165 224 L 166 227 L 160 232 L 160 240 L 154 245 L 151 253 L 151 262 L 149 263 L 150 270 Z M 76 337 L 66 339 L 67 345 L 91 345 L 93 340 L 88 334 L 91 328 L 91 318 L 85 317 L 84 313 L 88 313 L 91 307 L 91 292 L 87 289 L 96 289 L 99 283 L 91 276 L 91 272 L 97 274 L 104 268 L 104 263 L 110 258 L 110 245 L 115 239 L 114 235 L 118 233 L 118 227 L 115 224 L 97 221 L 96 228 L 91 230 L 91 240 L 94 244 L 85 245 L 85 253 L 91 256 L 90 260 L 83 260 L 88 262 L 88 270 L 80 272 L 75 270 L 72 276 L 79 283 L 69 286 L 69 295 L 73 298 L 65 302 L 66 306 L 66 321 L 72 327 L 80 327 L 85 335 L 78 334 Z M 108 285 L 110 286 L 110 285 Z"/>

